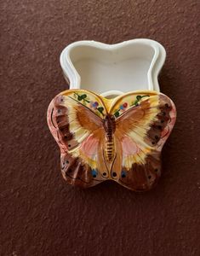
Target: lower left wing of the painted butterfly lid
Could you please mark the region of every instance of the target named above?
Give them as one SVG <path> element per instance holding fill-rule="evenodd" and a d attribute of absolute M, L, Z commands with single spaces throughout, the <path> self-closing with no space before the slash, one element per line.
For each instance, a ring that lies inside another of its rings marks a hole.
<path fill-rule="evenodd" d="M 85 144 L 89 142 L 93 145 L 89 151 L 85 151 Z M 106 179 L 102 171 L 104 162 L 100 160 L 100 148 L 101 142 L 92 134 L 84 141 L 83 146 L 72 153 L 60 153 L 61 172 L 67 183 L 88 188 Z"/>

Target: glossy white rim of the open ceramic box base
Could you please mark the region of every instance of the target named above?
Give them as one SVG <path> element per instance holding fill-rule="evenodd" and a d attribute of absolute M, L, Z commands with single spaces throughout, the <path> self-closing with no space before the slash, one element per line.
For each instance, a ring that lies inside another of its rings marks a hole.
<path fill-rule="evenodd" d="M 63 70 L 64 77 L 66 78 L 67 82 L 70 84 L 70 89 L 81 89 L 81 78 L 79 74 L 77 73 L 76 68 L 73 66 L 73 63 L 71 61 L 70 53 L 71 49 L 77 47 L 77 46 L 91 46 L 93 48 L 98 49 L 122 49 L 124 46 L 127 46 L 128 44 L 143 44 L 151 46 L 151 48 L 154 50 L 154 55 L 151 60 L 151 65 L 147 72 L 147 80 L 148 80 L 148 90 L 157 90 L 160 91 L 159 84 L 158 84 L 158 74 L 161 71 L 161 68 L 163 67 L 165 58 L 166 58 L 166 51 L 163 48 L 162 44 L 159 44 L 157 41 L 146 39 L 146 38 L 137 38 L 132 39 L 129 41 L 124 41 L 122 43 L 118 44 L 103 44 L 96 41 L 77 41 L 72 44 L 69 44 L 66 46 L 65 49 L 62 50 L 60 54 L 60 66 Z M 109 90 L 104 93 L 101 93 L 101 96 L 111 96 L 111 95 L 121 95 L 123 94 L 123 91 L 119 90 Z"/>

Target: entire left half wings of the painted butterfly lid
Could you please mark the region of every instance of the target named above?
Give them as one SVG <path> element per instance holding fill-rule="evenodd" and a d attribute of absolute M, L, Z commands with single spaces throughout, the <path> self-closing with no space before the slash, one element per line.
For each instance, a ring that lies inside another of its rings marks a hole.
<path fill-rule="evenodd" d="M 66 90 L 49 104 L 49 129 L 60 146 L 61 172 L 68 183 L 86 188 L 107 177 L 102 159 L 105 114 L 100 97 L 85 90 Z"/>

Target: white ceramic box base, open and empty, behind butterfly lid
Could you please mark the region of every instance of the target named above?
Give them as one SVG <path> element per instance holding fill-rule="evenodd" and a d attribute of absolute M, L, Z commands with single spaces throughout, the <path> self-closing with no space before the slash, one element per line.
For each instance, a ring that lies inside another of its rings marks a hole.
<path fill-rule="evenodd" d="M 108 98 L 132 90 L 157 90 L 158 73 L 166 52 L 150 39 L 120 44 L 78 41 L 60 55 L 60 65 L 70 89 L 93 90 Z"/>

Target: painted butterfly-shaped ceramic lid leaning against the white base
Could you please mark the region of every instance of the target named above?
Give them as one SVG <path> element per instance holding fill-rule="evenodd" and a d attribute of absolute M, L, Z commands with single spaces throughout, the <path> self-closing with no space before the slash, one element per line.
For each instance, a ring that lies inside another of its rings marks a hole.
<path fill-rule="evenodd" d="M 153 90 L 107 99 L 66 90 L 49 104 L 49 129 L 67 183 L 89 188 L 113 180 L 134 191 L 161 175 L 161 150 L 176 118 L 174 103 Z"/>

